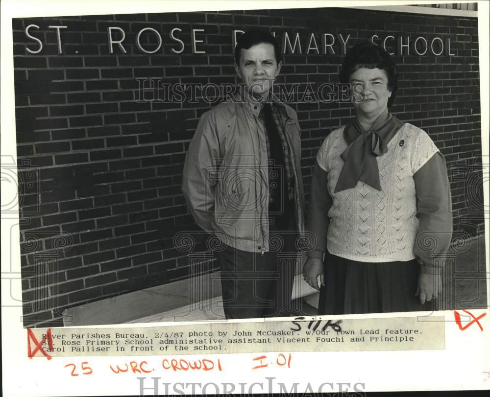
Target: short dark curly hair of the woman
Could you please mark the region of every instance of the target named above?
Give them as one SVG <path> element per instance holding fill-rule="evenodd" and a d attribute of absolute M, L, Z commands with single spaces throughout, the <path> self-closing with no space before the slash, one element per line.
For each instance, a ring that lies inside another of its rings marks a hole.
<path fill-rule="evenodd" d="M 388 98 L 388 107 L 392 106 L 398 90 L 398 70 L 392 56 L 383 47 L 362 42 L 350 48 L 345 55 L 339 73 L 341 83 L 349 83 L 350 75 L 360 68 L 381 69 L 388 76 L 388 89 L 392 92 Z"/>

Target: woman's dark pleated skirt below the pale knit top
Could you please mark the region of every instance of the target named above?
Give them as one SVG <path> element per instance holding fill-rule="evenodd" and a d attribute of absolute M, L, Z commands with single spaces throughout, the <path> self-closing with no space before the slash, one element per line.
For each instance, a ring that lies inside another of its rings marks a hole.
<path fill-rule="evenodd" d="M 417 260 L 369 263 L 325 254 L 325 285 L 318 314 L 437 310 L 437 300 L 420 304 Z"/>

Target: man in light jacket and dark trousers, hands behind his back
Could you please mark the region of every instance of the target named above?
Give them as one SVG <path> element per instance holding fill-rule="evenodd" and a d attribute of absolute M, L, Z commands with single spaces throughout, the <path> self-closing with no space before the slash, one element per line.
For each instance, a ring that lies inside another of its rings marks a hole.
<path fill-rule="evenodd" d="M 228 319 L 290 315 L 304 197 L 297 116 L 271 93 L 280 57 L 269 33 L 240 36 L 243 94 L 202 115 L 184 165 L 196 223 L 225 244 L 216 257 Z"/>

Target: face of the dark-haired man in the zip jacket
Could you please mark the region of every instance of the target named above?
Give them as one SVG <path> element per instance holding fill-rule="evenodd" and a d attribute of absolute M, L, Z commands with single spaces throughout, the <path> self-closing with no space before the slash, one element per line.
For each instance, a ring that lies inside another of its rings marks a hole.
<path fill-rule="evenodd" d="M 270 43 L 259 43 L 248 49 L 240 50 L 240 65 L 235 65 L 242 83 L 258 99 L 267 98 L 272 82 L 281 70 L 277 64 L 274 46 Z"/>

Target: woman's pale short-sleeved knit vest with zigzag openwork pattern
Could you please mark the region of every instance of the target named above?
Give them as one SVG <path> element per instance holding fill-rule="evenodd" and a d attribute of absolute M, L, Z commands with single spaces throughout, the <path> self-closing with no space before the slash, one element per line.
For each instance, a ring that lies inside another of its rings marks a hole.
<path fill-rule="evenodd" d="M 362 262 L 407 261 L 415 258 L 417 196 L 413 175 L 438 148 L 420 128 L 405 123 L 376 157 L 381 190 L 359 181 L 356 187 L 334 193 L 347 144 L 344 127 L 323 141 L 317 161 L 328 172 L 332 207 L 328 212 L 328 251 Z"/>

